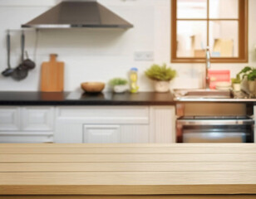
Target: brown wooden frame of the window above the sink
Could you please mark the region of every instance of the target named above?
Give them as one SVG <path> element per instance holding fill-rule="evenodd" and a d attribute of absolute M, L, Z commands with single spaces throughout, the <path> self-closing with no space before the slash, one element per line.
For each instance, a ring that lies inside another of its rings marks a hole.
<path fill-rule="evenodd" d="M 172 63 L 204 63 L 205 58 L 177 57 L 177 0 L 171 1 L 171 62 Z M 224 18 L 209 19 L 209 0 L 207 0 L 207 19 L 202 21 L 226 20 Z M 193 21 L 193 19 L 190 19 Z M 198 19 L 199 20 L 199 19 Z M 230 19 L 229 19 L 230 20 Z M 232 20 L 232 19 L 231 19 Z M 233 19 L 234 20 L 234 19 Z M 196 20 L 194 20 L 196 21 Z M 246 63 L 248 62 L 248 0 L 239 0 L 239 56 L 212 57 L 212 63 Z M 209 25 L 208 25 L 209 26 Z M 209 34 L 209 27 L 207 27 Z M 209 36 L 207 36 L 209 38 Z M 209 41 L 207 41 L 209 43 Z"/>

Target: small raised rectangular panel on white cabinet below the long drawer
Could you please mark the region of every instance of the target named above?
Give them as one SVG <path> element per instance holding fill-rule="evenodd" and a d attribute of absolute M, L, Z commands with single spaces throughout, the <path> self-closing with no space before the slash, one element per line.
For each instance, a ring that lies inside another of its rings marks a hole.
<path fill-rule="evenodd" d="M 119 125 L 84 125 L 83 143 L 120 143 Z"/>

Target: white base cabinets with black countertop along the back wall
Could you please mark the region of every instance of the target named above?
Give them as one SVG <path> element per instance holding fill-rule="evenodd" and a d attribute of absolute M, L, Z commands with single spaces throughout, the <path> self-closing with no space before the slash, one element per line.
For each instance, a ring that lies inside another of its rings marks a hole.
<path fill-rule="evenodd" d="M 239 98 L 175 101 L 170 92 L 0 92 L 0 143 L 175 143 L 176 107 L 188 102 L 256 104 Z"/>

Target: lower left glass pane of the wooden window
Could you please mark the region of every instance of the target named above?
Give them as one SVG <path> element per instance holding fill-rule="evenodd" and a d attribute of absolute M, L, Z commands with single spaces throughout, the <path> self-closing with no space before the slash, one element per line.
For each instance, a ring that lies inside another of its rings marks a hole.
<path fill-rule="evenodd" d="M 177 56 L 204 57 L 206 21 L 177 21 Z"/>

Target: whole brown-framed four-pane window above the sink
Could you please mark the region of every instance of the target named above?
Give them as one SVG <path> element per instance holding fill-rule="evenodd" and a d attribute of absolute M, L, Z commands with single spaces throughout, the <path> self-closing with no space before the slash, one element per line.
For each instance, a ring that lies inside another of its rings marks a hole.
<path fill-rule="evenodd" d="M 248 61 L 248 0 L 172 0 L 171 62 Z"/>

